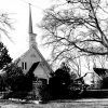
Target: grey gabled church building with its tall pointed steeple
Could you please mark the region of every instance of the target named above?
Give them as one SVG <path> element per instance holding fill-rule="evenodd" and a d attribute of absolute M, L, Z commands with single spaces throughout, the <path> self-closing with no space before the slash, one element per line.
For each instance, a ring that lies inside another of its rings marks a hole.
<path fill-rule="evenodd" d="M 31 8 L 29 4 L 29 49 L 25 52 L 21 57 L 18 57 L 15 63 L 19 67 L 22 67 L 24 73 L 26 75 L 28 71 L 33 72 L 35 77 L 39 79 L 45 79 L 49 83 L 50 73 L 53 72 L 48 62 L 44 59 L 42 54 L 40 53 L 37 42 L 36 42 L 36 33 L 33 33 L 32 29 L 32 17 L 31 17 Z"/>

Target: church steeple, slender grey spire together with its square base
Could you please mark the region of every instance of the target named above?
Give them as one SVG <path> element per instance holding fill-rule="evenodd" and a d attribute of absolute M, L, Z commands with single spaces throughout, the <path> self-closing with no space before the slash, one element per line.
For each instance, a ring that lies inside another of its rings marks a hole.
<path fill-rule="evenodd" d="M 29 49 L 32 48 L 32 45 L 37 45 L 36 43 L 36 33 L 33 33 L 32 29 L 32 17 L 31 17 L 31 4 L 29 3 L 29 27 L 28 27 L 28 33 L 29 33 Z"/>

